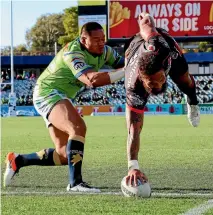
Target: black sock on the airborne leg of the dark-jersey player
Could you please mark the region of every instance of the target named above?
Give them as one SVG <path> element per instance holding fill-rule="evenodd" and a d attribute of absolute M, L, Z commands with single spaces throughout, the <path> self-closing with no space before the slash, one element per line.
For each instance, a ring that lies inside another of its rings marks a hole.
<path fill-rule="evenodd" d="M 192 75 L 190 75 L 190 78 L 193 82 L 193 87 L 189 87 L 186 84 L 180 84 L 178 85 L 178 88 L 187 95 L 187 103 L 189 105 L 197 105 L 198 100 L 197 100 L 197 95 L 196 95 L 196 85 L 195 81 Z"/>

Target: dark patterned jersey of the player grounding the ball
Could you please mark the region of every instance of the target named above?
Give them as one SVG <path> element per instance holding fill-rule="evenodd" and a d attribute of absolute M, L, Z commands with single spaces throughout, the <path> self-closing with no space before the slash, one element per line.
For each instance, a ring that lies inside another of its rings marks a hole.
<path fill-rule="evenodd" d="M 159 37 L 161 42 L 160 46 L 169 46 L 169 56 L 165 57 L 167 54 L 163 56 L 163 50 L 162 53 L 160 53 L 156 64 L 163 64 L 163 59 L 168 59 L 165 64 L 166 75 L 169 74 L 171 77 L 181 76 L 188 71 L 188 65 L 181 49 L 167 31 L 161 28 L 157 28 L 157 31 L 161 35 Z M 126 103 L 131 110 L 138 113 L 143 112 L 149 97 L 149 93 L 145 90 L 143 82 L 139 78 L 138 56 L 159 48 L 155 47 L 155 45 L 153 47 L 152 44 L 150 46 L 149 43 L 144 41 L 140 34 L 136 34 L 126 42 L 124 47 Z M 159 66 L 161 67 L 162 65 Z"/>

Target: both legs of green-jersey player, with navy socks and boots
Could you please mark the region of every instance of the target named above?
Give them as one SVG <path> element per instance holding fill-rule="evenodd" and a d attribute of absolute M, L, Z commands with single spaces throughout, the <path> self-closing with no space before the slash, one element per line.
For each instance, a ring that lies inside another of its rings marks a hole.
<path fill-rule="evenodd" d="M 100 192 L 99 189 L 88 186 L 82 180 L 81 166 L 83 160 L 86 125 L 73 105 L 67 100 L 59 101 L 48 117 L 52 124 L 49 127 L 50 136 L 55 149 L 42 149 L 31 154 L 9 153 L 4 174 L 4 185 L 11 183 L 20 168 L 29 165 L 69 166 L 69 191 Z"/>

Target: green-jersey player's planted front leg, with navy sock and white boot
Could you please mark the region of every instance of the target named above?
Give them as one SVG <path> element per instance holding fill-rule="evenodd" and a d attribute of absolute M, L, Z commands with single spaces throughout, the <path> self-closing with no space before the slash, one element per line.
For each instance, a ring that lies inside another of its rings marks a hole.
<path fill-rule="evenodd" d="M 66 145 L 60 146 L 61 153 L 66 147 L 66 157 L 69 166 L 69 184 L 67 191 L 100 192 L 92 188 L 82 179 L 81 167 L 84 154 L 86 125 L 73 105 L 67 100 L 61 100 L 52 109 L 48 120 L 59 130 L 68 135 Z"/>

